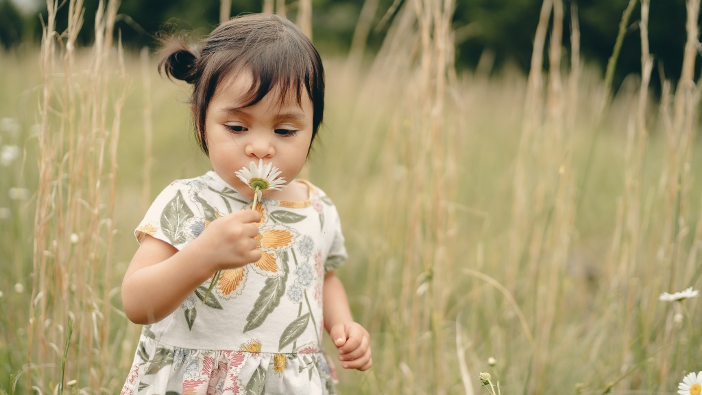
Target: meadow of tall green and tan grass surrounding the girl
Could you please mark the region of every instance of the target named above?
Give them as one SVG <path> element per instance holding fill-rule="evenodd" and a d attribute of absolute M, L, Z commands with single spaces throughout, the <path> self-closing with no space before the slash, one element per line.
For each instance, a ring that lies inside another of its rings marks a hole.
<path fill-rule="evenodd" d="M 301 176 L 338 207 L 338 276 L 373 342 L 341 394 L 486 394 L 482 372 L 505 395 L 675 394 L 702 370 L 699 298 L 658 300 L 701 286 L 699 0 L 660 94 L 647 5 L 623 23 L 639 21 L 642 74 L 616 92 L 561 0 L 544 1 L 528 75 L 487 56 L 457 72 L 451 1 L 407 1 L 363 62 L 322 54 Z M 74 48 L 76 16 L 0 53 L 0 394 L 119 392 L 140 332 L 119 297 L 133 228 L 209 169 L 188 86 L 112 40 L 111 6 L 93 47 Z"/>

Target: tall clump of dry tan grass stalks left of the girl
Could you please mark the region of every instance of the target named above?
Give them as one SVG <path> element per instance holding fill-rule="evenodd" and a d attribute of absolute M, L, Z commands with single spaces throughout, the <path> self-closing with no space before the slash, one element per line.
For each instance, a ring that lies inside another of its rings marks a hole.
<path fill-rule="evenodd" d="M 63 328 L 73 316 L 77 328 L 71 349 L 65 350 L 67 377 L 95 390 L 109 382 L 113 366 L 107 363 L 107 347 L 114 341 L 110 333 L 112 217 L 119 117 L 127 86 L 121 47 L 117 70 L 110 67 L 118 5 L 118 1 L 109 1 L 106 7 L 102 2 L 98 7 L 95 44 L 85 72 L 75 56 L 84 13 L 81 1 L 69 2 L 65 41 L 58 41 L 65 48 L 63 70 L 54 60 L 56 2 L 47 4 L 50 13 L 42 43 L 45 86 L 28 357 L 35 365 L 58 361 L 62 353 L 48 349 L 62 344 Z M 116 100 L 110 97 L 114 72 L 119 73 L 123 87 Z M 98 361 L 95 349 L 105 350 L 98 354 Z M 28 375 L 29 387 L 46 388 L 61 377 L 53 368 L 36 373 Z"/>

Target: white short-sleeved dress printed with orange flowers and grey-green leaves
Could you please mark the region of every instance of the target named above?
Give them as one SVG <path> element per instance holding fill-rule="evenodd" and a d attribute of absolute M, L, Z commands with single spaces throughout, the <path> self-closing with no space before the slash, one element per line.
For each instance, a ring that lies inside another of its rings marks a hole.
<path fill-rule="evenodd" d="M 336 392 L 333 363 L 321 349 L 322 286 L 347 254 L 333 203 L 303 182 L 305 202 L 257 204 L 258 262 L 223 271 L 205 298 L 207 280 L 170 316 L 143 327 L 122 395 Z M 250 207 L 251 199 L 208 171 L 167 186 L 135 235 L 181 250 L 218 217 Z"/>

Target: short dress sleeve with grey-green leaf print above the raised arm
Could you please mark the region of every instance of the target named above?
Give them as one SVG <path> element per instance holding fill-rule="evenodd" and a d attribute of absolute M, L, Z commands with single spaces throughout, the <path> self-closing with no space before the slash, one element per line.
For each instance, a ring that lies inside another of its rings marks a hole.
<path fill-rule="evenodd" d="M 156 197 L 134 235 L 140 243 L 151 235 L 183 249 L 204 230 L 205 221 L 197 202 L 189 186 L 173 181 Z"/>

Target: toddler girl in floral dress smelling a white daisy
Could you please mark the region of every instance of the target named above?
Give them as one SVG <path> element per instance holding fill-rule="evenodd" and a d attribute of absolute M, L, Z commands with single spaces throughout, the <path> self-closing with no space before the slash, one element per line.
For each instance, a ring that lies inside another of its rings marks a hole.
<path fill-rule="evenodd" d="M 288 20 L 246 15 L 200 51 L 171 41 L 159 70 L 192 84 L 213 171 L 173 181 L 135 231 L 122 301 L 145 326 L 121 394 L 333 394 L 323 329 L 344 368 L 372 361 L 334 275 L 347 258 L 336 208 L 295 179 L 322 122 L 319 54 Z M 252 209 L 244 167 L 264 187 L 289 182 Z"/>

